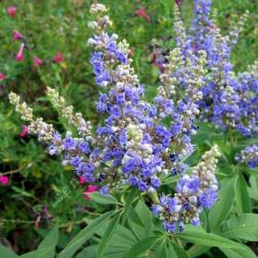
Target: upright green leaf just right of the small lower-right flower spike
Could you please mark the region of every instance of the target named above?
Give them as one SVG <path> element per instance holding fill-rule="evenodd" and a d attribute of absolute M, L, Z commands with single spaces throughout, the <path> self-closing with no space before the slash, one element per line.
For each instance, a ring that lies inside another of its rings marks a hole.
<path fill-rule="evenodd" d="M 209 210 L 209 225 L 212 231 L 216 231 L 218 226 L 229 215 L 235 201 L 235 184 L 237 177 L 223 180 L 222 188 L 218 191 L 218 201 Z"/>

